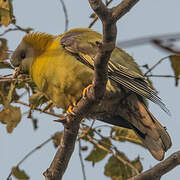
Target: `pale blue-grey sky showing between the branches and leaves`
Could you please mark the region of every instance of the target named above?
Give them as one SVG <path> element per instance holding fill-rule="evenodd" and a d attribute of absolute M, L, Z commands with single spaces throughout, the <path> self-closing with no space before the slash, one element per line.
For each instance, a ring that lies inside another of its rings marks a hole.
<path fill-rule="evenodd" d="M 114 0 L 116 3 L 120 1 Z M 65 0 L 68 15 L 69 29 L 76 27 L 87 27 L 90 23 L 89 15 L 92 13 L 88 0 Z M 60 34 L 64 32 L 64 14 L 59 0 L 14 0 L 14 15 L 17 24 L 22 27 L 32 27 L 35 31 L 47 32 L 50 34 Z M 179 0 L 141 0 L 128 14 L 118 22 L 118 41 L 164 33 L 180 32 L 180 1 Z M 101 24 L 97 23 L 93 29 L 101 32 Z M 1 28 L 3 32 L 4 28 Z M 8 33 L 8 45 L 14 50 L 21 38 L 22 32 Z M 169 55 L 154 48 L 152 45 L 131 47 L 126 49 L 137 61 L 139 65 L 148 63 L 152 66 L 162 57 Z M 164 62 L 156 69 L 157 74 L 170 74 L 172 70 L 169 62 Z M 159 96 L 167 104 L 172 116 L 166 115 L 157 105 L 151 104 L 151 111 L 158 120 L 167 127 L 171 135 L 173 146 L 166 153 L 166 157 L 173 152 L 180 150 L 180 87 L 174 86 L 173 79 L 153 78 L 154 86 L 159 90 Z M 22 108 L 24 110 L 24 108 Z M 35 113 L 38 118 L 39 129 L 34 131 L 31 120 L 25 118 L 14 130 L 12 134 L 7 134 L 4 125 L 0 125 L 0 179 L 5 180 L 10 172 L 10 168 L 24 157 L 34 147 L 48 139 L 54 132 L 62 129 L 62 126 L 53 122 L 54 117 Z M 140 156 L 144 169 L 154 166 L 158 161 L 154 160 L 151 154 L 136 145 L 130 143 L 118 143 L 118 149 L 126 152 L 130 159 Z M 33 154 L 21 166 L 25 169 L 32 180 L 44 179 L 42 173 L 49 167 L 56 149 L 50 142 L 45 147 Z M 83 153 L 86 157 L 87 153 Z M 105 159 L 107 161 L 108 158 Z M 101 179 L 108 180 L 104 172 L 105 162 L 99 162 L 94 167 L 91 163 L 85 162 L 87 180 Z M 178 180 L 180 178 L 180 167 L 175 168 L 163 180 Z M 14 179 L 14 178 L 12 178 Z M 71 158 L 68 169 L 64 175 L 64 180 L 81 180 L 82 172 L 78 156 L 78 146 Z"/>

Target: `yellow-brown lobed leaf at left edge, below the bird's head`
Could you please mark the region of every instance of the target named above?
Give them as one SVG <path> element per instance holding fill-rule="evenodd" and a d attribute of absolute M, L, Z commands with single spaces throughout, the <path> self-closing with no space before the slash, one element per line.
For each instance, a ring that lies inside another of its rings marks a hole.
<path fill-rule="evenodd" d="M 12 133 L 12 131 L 19 124 L 20 121 L 20 107 L 14 107 L 9 105 L 8 108 L 5 108 L 0 112 L 0 122 L 7 125 L 6 129 L 8 133 Z"/>

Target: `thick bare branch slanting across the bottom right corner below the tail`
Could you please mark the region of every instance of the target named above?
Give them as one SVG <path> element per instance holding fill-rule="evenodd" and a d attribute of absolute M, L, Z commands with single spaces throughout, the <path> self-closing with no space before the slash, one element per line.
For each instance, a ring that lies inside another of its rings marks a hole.
<path fill-rule="evenodd" d="M 177 165 L 180 165 L 180 151 L 173 153 L 153 168 L 131 178 L 130 180 L 159 180 L 161 176 L 175 168 Z"/>

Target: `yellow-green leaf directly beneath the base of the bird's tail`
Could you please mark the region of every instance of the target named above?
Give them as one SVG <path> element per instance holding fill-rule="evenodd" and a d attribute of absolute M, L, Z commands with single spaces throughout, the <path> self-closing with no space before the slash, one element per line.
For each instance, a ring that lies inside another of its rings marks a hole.
<path fill-rule="evenodd" d="M 116 141 L 121 141 L 121 142 L 129 141 L 144 147 L 142 141 L 138 138 L 136 133 L 131 129 L 114 126 L 111 129 L 111 137 Z"/>

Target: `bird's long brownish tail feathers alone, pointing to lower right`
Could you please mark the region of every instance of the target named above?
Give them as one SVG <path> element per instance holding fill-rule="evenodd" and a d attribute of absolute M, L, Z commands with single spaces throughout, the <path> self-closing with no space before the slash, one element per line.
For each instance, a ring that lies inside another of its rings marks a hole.
<path fill-rule="evenodd" d="M 146 106 L 138 99 L 136 100 L 141 118 L 137 119 L 137 117 L 134 117 L 128 121 L 153 157 L 161 161 L 165 152 L 172 145 L 170 136 Z"/>

